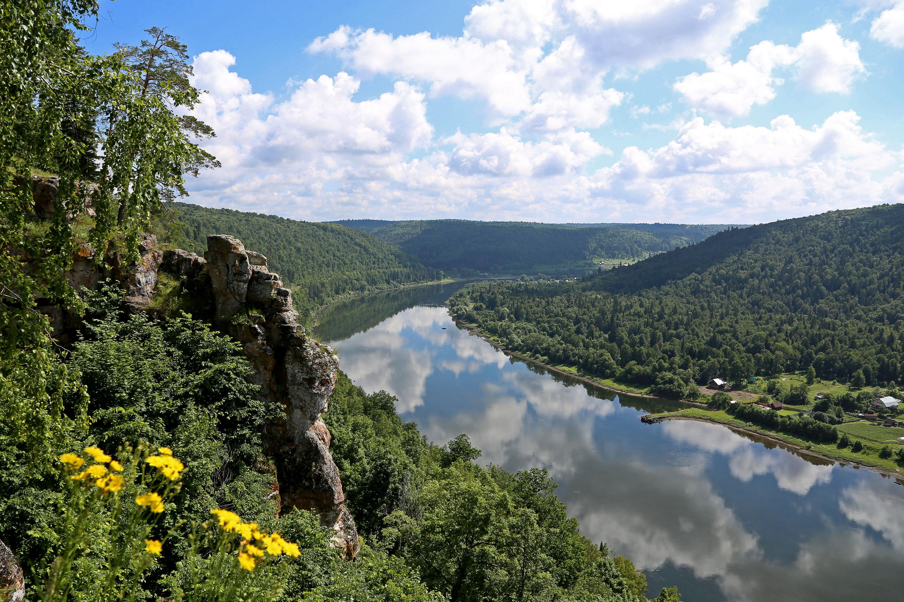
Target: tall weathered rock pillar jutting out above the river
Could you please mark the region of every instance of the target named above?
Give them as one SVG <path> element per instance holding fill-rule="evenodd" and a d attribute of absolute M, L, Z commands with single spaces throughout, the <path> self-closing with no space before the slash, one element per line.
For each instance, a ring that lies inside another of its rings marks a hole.
<path fill-rule="evenodd" d="M 269 271 L 267 257 L 246 251 L 232 236 L 208 236 L 203 258 L 181 249 L 167 251 L 163 269 L 188 277 L 209 275 L 214 320 L 242 344 L 261 394 L 285 409 L 266 438 L 283 511 L 297 507 L 319 513 L 334 528 L 334 543 L 353 557 L 358 533 L 320 418 L 336 383 L 339 360 L 333 349 L 319 345 L 297 323 L 292 292 Z"/>

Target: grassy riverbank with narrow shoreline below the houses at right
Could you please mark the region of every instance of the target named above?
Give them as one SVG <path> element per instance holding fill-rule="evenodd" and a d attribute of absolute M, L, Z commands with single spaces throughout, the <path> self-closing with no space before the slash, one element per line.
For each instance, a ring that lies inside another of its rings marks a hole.
<path fill-rule="evenodd" d="M 839 464 L 852 466 L 854 468 L 866 468 L 873 472 L 878 472 L 887 477 L 898 479 L 901 485 L 904 485 L 904 471 L 895 462 L 894 459 L 879 458 L 879 449 L 874 442 L 862 439 L 852 438 L 852 440 L 860 440 L 863 445 L 862 452 L 853 452 L 850 448 L 839 448 L 831 443 L 815 443 L 798 439 L 786 433 L 768 431 L 755 424 L 743 422 L 731 417 L 727 412 L 719 410 L 697 410 L 688 408 L 679 410 L 678 412 L 664 412 L 661 414 L 652 414 L 651 417 L 656 421 L 698 421 L 711 422 L 728 427 L 731 431 L 737 431 L 745 435 L 752 435 L 758 439 L 768 440 L 776 443 L 789 451 L 799 453 L 802 456 L 811 456 L 813 458 L 822 458 L 830 462 L 838 462 Z"/>

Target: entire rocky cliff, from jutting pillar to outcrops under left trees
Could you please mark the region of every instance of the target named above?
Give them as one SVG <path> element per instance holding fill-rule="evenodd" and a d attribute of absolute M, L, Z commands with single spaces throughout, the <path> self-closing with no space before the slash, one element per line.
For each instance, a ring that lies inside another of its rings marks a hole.
<path fill-rule="evenodd" d="M 201 300 L 199 305 L 209 306 L 214 325 L 240 341 L 261 396 L 285 409 L 265 437 L 282 510 L 297 507 L 320 514 L 334 529 L 334 544 L 353 558 L 358 533 L 329 453 L 330 433 L 320 418 L 337 378 L 339 360 L 333 349 L 308 336 L 297 322 L 292 292 L 269 271 L 267 257 L 246 250 L 240 240 L 208 236 L 203 257 L 155 247 L 155 237 L 144 235 L 137 264 L 123 264 L 113 255 L 99 268 L 93 249 L 82 245 L 66 275 L 76 290 L 96 289 L 102 279 L 115 279 L 125 292 L 126 309 L 137 311 L 150 304 L 158 273 L 164 271 L 179 277 L 183 290 Z M 76 318 L 57 306 L 41 309 L 51 316 L 58 338 L 67 342 Z"/>

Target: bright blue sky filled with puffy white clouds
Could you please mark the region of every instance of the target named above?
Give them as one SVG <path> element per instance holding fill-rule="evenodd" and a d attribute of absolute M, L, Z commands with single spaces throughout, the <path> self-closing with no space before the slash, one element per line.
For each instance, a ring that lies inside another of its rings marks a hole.
<path fill-rule="evenodd" d="M 754 223 L 904 197 L 904 2 L 260 5 L 104 2 L 86 40 L 188 43 L 223 162 L 190 202 Z"/>

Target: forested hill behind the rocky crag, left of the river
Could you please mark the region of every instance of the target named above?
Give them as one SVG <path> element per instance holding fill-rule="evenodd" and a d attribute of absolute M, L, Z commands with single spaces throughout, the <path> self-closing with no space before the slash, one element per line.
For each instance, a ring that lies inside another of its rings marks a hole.
<path fill-rule="evenodd" d="M 306 320 L 324 303 L 344 295 L 440 277 L 438 270 L 359 230 L 187 203 L 172 207 L 184 225 L 177 245 L 202 254 L 209 234 L 240 238 L 248 248 L 267 255 L 273 270 L 293 289 Z"/>

